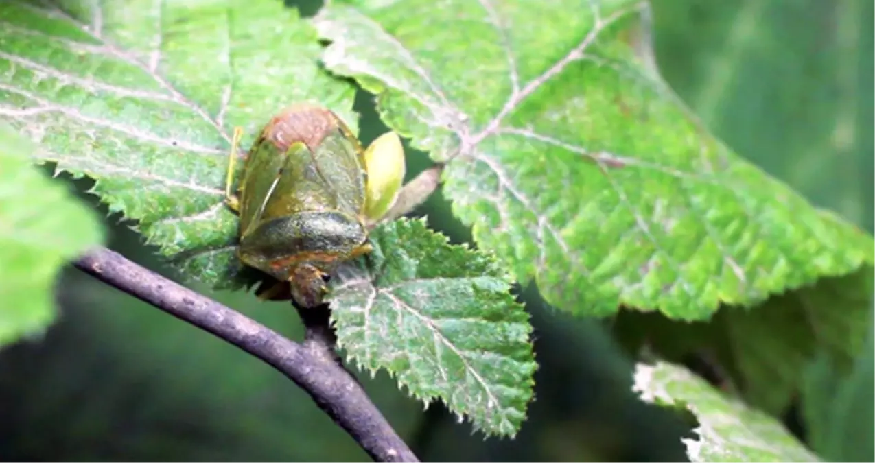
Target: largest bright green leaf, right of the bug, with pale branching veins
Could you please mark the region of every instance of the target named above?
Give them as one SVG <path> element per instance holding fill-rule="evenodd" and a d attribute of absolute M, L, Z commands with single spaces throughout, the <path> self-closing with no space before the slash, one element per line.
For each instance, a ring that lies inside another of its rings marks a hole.
<path fill-rule="evenodd" d="M 447 162 L 453 212 L 552 304 L 707 319 L 875 262 L 869 236 L 729 151 L 635 57 L 645 3 L 423 5 L 326 7 L 323 60 Z"/>

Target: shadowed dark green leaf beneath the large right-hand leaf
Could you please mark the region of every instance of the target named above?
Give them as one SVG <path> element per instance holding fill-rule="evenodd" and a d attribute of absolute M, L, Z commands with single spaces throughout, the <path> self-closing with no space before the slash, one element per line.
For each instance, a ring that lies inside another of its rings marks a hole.
<path fill-rule="evenodd" d="M 777 416 L 797 396 L 816 354 L 847 368 L 860 352 L 869 319 L 866 273 L 822 278 L 755 310 L 720 311 L 707 323 L 624 311 L 612 329 L 629 352 L 644 347 L 676 362 L 695 353 L 716 366 L 721 381 L 732 383 L 746 403 Z"/>

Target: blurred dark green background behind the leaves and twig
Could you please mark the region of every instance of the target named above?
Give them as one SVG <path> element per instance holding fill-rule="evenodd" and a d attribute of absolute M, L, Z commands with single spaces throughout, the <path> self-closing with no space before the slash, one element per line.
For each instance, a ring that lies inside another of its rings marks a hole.
<path fill-rule="evenodd" d="M 300 6 L 304 14 L 317 10 Z M 863 86 L 875 77 L 875 34 L 865 32 L 875 31 L 867 27 L 875 25 L 875 4 L 657 0 L 653 21 L 663 76 L 718 137 L 817 205 L 875 232 L 865 209 L 875 193 L 867 181 L 875 173 L 875 131 L 865 126 L 875 116 L 875 94 Z M 370 95 L 359 94 L 356 105 L 369 142 L 386 128 Z M 409 176 L 427 165 L 411 151 Z M 73 185 L 83 192 L 89 183 Z M 453 241 L 469 240 L 439 194 L 418 213 Z M 110 247 L 173 277 L 130 224 L 118 222 L 107 218 Z M 286 305 L 205 292 L 300 335 Z M 0 353 L 0 461 L 367 461 L 308 396 L 247 354 L 77 270 L 65 272 L 57 294 L 58 322 Z M 386 375 L 361 375 L 423 461 L 685 460 L 679 437 L 689 424 L 633 396 L 632 361 L 599 322 L 553 311 L 534 288 L 522 288 L 521 299 L 533 314 L 541 368 L 528 421 L 513 441 L 472 435 L 440 407 L 423 411 Z M 813 378 L 829 375 L 828 366 L 818 368 Z M 858 432 L 812 438 L 835 448 L 860 444 L 846 461 L 864 458 L 861 445 L 875 429 L 866 426 L 875 416 L 872 398 L 857 392 L 875 379 L 856 381 L 842 389 L 846 411 L 833 410 L 830 395 L 817 405 L 826 404 L 824 422 Z M 812 384 L 815 391 L 839 388 Z"/>

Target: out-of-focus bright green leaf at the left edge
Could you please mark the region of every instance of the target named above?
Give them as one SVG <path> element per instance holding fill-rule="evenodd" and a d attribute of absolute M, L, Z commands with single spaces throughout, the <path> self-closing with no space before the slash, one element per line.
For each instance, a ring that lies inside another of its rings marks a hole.
<path fill-rule="evenodd" d="M 38 172 L 31 151 L 0 123 L 0 347 L 52 321 L 60 267 L 103 241 L 95 214 Z"/>

